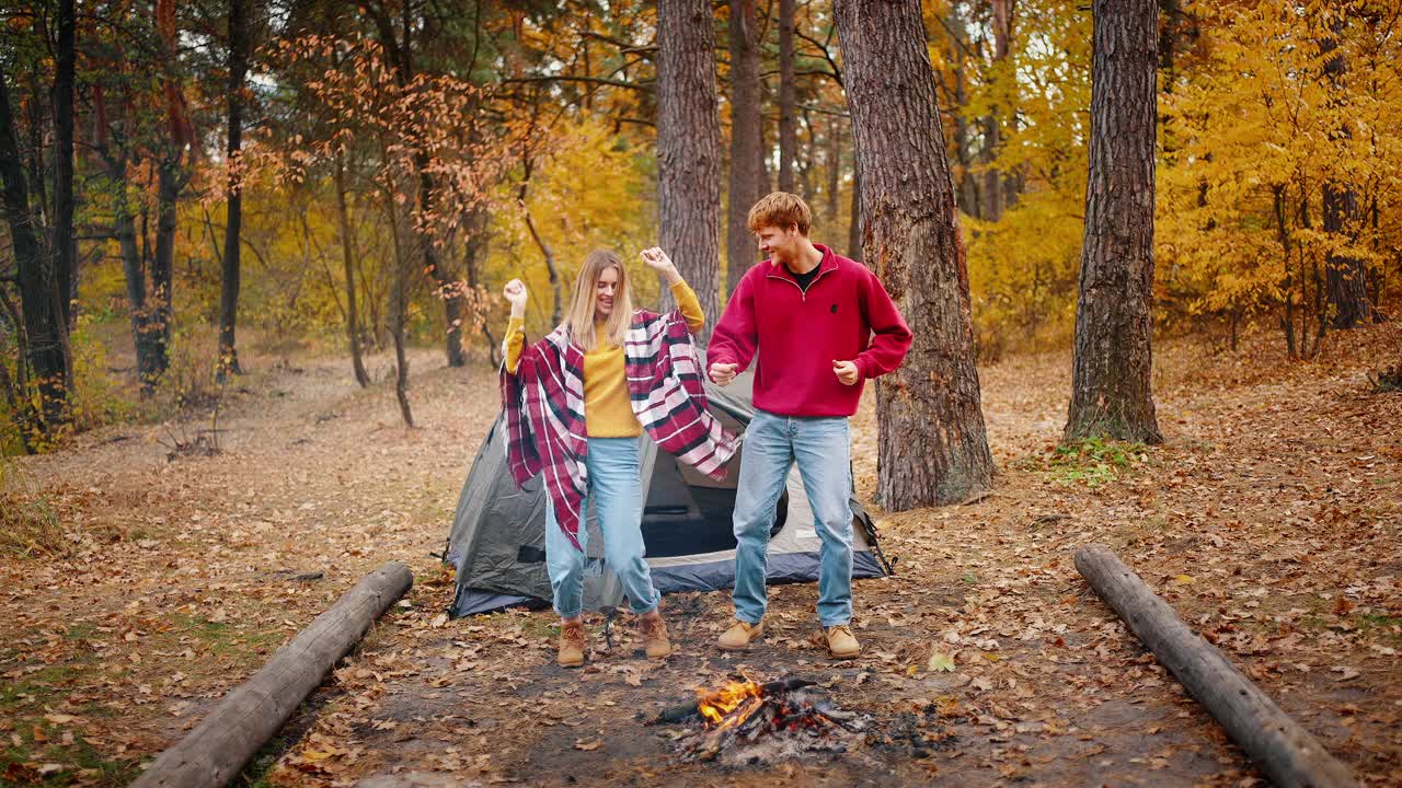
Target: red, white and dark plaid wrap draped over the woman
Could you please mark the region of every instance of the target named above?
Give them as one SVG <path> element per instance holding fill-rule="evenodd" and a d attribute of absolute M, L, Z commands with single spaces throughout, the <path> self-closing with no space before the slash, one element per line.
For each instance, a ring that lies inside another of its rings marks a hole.
<path fill-rule="evenodd" d="M 737 439 L 707 411 L 701 359 L 681 313 L 638 310 L 624 337 L 628 398 L 656 444 L 711 478 L 725 478 Z M 516 374 L 502 367 L 506 460 L 517 485 L 545 475 L 555 520 L 579 548 L 589 491 L 585 353 L 555 328 L 522 352 Z"/>

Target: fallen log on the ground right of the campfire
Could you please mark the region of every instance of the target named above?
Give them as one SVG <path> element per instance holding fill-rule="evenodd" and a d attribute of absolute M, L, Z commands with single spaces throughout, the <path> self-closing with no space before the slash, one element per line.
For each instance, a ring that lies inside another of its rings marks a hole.
<path fill-rule="evenodd" d="M 1109 548 L 1088 544 L 1077 550 L 1075 568 L 1272 782 L 1281 788 L 1357 785 L 1347 767 L 1193 632 Z"/>

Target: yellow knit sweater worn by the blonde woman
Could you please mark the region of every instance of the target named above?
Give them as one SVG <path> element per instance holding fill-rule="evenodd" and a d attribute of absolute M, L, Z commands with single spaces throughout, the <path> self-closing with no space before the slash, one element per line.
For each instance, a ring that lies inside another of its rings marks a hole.
<path fill-rule="evenodd" d="M 701 301 L 686 282 L 672 286 L 672 296 L 693 334 L 705 325 Z M 506 325 L 506 372 L 516 373 L 526 345 L 524 321 L 513 317 Z M 592 353 L 585 353 L 585 426 L 589 437 L 637 437 L 642 435 L 638 416 L 628 401 L 628 381 L 624 376 L 622 348 L 600 342 Z"/>

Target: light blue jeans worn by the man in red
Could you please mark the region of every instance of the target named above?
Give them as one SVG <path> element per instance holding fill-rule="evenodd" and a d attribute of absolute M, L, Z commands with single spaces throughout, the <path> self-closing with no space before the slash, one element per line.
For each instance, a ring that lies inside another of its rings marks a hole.
<path fill-rule="evenodd" d="M 817 618 L 823 627 L 852 620 L 851 432 L 845 418 L 780 416 L 754 411 L 744 430 L 735 496 L 735 617 L 757 624 L 768 595 L 764 578 L 770 529 L 789 468 L 798 463 L 813 526 L 822 540 Z"/>

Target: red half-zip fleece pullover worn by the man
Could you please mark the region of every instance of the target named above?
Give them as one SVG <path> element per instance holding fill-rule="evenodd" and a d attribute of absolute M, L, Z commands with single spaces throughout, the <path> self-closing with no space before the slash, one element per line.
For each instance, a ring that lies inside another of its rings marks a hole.
<path fill-rule="evenodd" d="M 823 252 L 805 293 L 785 265 L 751 268 L 730 296 L 709 363 L 754 370 L 754 407 L 781 416 L 850 416 L 862 383 L 893 372 L 910 351 L 906 318 L 876 275 L 857 261 Z M 756 359 L 756 355 L 758 356 Z M 857 363 L 857 384 L 843 386 L 833 362 Z"/>

